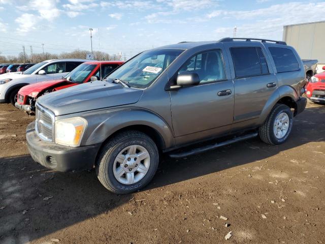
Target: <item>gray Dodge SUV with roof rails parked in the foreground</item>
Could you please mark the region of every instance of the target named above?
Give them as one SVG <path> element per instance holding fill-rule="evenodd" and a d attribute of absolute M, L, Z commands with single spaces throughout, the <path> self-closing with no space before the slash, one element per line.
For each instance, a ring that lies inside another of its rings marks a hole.
<path fill-rule="evenodd" d="M 306 106 L 303 62 L 280 41 L 182 42 L 92 80 L 39 98 L 28 149 L 53 170 L 94 167 L 118 194 L 146 186 L 161 153 L 185 157 L 257 135 L 283 143 Z M 215 138 L 227 139 L 207 144 Z"/>

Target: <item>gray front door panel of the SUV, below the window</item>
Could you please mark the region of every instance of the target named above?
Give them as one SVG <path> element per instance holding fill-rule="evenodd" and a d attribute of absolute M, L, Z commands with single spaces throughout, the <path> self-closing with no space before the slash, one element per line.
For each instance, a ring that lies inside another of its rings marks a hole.
<path fill-rule="evenodd" d="M 222 90 L 231 94 L 218 96 Z M 231 125 L 234 115 L 234 86 L 231 80 L 171 91 L 175 136 Z M 213 136 L 213 135 L 211 135 Z"/>

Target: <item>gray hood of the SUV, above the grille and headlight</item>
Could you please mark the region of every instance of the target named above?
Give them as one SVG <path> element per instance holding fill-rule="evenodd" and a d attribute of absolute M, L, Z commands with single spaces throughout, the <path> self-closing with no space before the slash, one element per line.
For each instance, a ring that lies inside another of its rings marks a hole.
<path fill-rule="evenodd" d="M 38 103 L 57 116 L 133 104 L 139 101 L 142 94 L 141 89 L 93 81 L 41 96 Z"/>

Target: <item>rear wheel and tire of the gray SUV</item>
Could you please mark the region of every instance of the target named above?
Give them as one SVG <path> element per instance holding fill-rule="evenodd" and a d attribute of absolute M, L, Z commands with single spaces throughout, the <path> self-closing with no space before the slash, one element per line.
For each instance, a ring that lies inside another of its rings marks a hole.
<path fill-rule="evenodd" d="M 289 136 L 293 127 L 293 113 L 284 104 L 276 104 L 265 123 L 259 127 L 259 137 L 265 143 L 279 145 Z"/>

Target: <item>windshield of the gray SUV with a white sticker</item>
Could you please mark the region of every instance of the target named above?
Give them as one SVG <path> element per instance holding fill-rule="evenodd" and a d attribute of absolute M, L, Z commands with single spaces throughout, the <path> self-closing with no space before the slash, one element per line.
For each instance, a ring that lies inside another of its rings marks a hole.
<path fill-rule="evenodd" d="M 182 49 L 144 51 L 111 73 L 109 79 L 119 79 L 128 86 L 148 87 L 178 57 Z"/>

